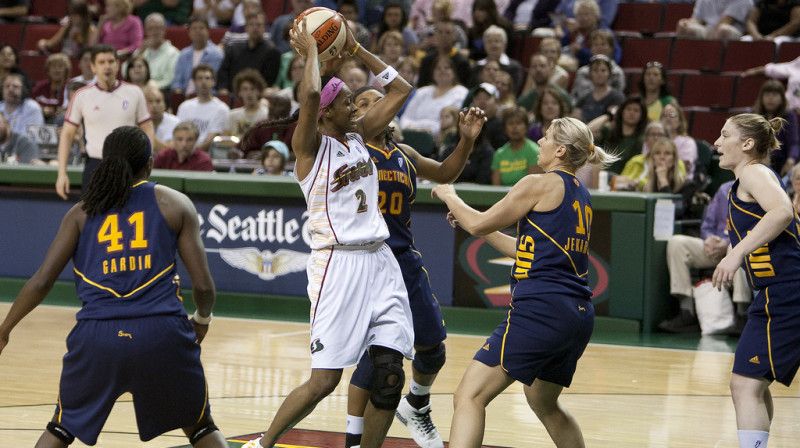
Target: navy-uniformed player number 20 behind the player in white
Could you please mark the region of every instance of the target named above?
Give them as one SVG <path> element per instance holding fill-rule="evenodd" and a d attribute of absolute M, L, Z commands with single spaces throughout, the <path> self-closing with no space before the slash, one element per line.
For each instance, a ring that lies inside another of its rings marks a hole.
<path fill-rule="evenodd" d="M 363 87 L 355 94 L 356 117 L 364 116 L 383 99 L 374 87 Z M 422 256 L 414 247 L 411 235 L 411 204 L 417 194 L 417 177 L 437 183 L 453 182 L 464 169 L 475 139 L 486 117 L 478 108 L 462 112 L 459 120 L 461 140 L 442 163 L 421 156 L 412 147 L 396 144 L 391 128 L 367 142 L 370 156 L 380 178 L 379 206 L 389 226 L 386 243 L 392 249 L 408 290 L 411 315 L 414 319 L 414 362 L 410 393 L 400 401 L 396 416 L 411 432 L 421 447 L 441 447 L 442 438 L 431 420 L 430 389 L 445 362 L 442 311 L 433 295 Z M 367 353 L 350 379 L 347 412 L 347 446 L 361 443 L 364 409 L 372 387 L 372 365 Z"/>

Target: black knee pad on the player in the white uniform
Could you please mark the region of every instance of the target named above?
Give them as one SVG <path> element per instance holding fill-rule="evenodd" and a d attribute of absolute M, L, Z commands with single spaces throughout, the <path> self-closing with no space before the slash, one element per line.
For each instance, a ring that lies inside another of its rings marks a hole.
<path fill-rule="evenodd" d="M 371 347 L 372 389 L 369 401 L 378 409 L 397 409 L 402 397 L 405 373 L 403 355 L 386 347 Z"/>

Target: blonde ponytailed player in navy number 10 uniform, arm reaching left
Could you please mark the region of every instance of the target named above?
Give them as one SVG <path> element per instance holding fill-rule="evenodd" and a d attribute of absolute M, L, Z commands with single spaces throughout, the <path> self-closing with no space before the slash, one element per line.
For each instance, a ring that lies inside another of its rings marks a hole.
<path fill-rule="evenodd" d="M 558 447 L 583 447 L 578 422 L 558 402 L 569 387 L 594 327 L 587 275 L 592 204 L 575 177 L 584 164 L 608 165 L 617 156 L 594 146 L 574 118 L 553 120 L 539 140 L 544 174 L 525 176 L 485 212 L 470 208 L 452 185 L 431 192 L 447 204 L 448 219 L 508 257 L 508 318 L 478 350 L 456 389 L 451 447 L 479 447 L 486 406 L 514 381 Z M 516 240 L 499 230 L 517 226 Z"/>

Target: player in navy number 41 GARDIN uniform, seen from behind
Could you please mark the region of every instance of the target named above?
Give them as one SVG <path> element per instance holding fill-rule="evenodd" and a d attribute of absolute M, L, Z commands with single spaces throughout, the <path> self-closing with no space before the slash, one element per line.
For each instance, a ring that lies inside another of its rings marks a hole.
<path fill-rule="evenodd" d="M 58 404 L 38 448 L 94 445 L 124 392 L 143 441 L 183 428 L 193 446 L 227 447 L 209 413 L 200 345 L 211 321 L 214 281 L 192 202 L 148 182 L 153 166 L 142 130 L 115 129 L 81 202 L 61 221 L 38 271 L 0 324 L 11 330 L 45 298 L 72 259 L 83 307 L 67 338 Z M 186 318 L 176 249 L 192 279 L 197 311 Z"/>

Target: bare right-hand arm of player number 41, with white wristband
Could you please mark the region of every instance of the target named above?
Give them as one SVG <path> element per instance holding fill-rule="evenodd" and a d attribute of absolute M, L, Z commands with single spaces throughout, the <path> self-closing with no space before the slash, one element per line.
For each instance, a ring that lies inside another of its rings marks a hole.
<path fill-rule="evenodd" d="M 208 317 L 214 309 L 216 288 L 208 268 L 206 249 L 200 238 L 200 221 L 192 201 L 183 193 L 164 186 L 156 186 L 156 198 L 167 223 L 178 234 L 178 253 L 192 279 L 192 300 L 197 314 Z M 202 342 L 208 325 L 192 320 L 197 342 Z"/>

